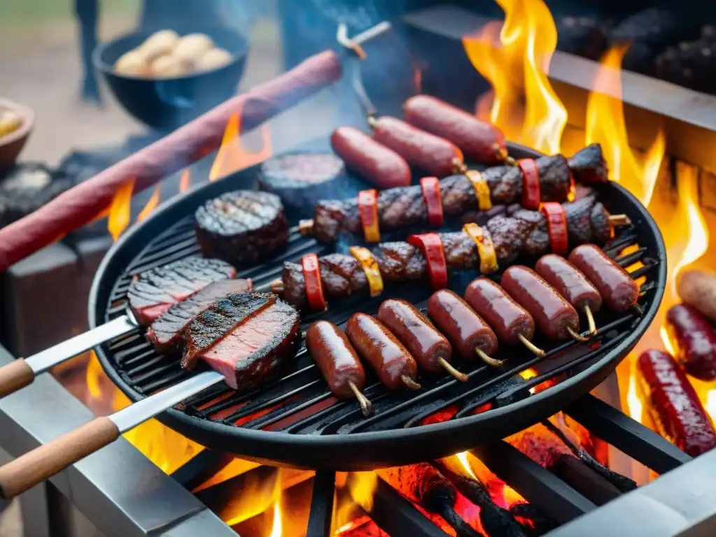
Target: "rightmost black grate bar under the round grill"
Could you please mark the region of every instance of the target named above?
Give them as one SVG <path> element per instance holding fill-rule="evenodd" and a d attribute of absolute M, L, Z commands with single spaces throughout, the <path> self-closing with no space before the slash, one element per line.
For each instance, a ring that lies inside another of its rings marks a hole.
<path fill-rule="evenodd" d="M 594 435 L 658 473 L 666 473 L 692 458 L 656 432 L 623 412 L 585 395 L 564 412 Z"/>

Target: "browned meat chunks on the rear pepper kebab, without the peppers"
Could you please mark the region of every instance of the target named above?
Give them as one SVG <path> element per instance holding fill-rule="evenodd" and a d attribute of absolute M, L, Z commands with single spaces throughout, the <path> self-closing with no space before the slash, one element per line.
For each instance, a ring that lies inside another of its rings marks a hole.
<path fill-rule="evenodd" d="M 601 177 L 604 157 L 601 147 L 590 145 L 570 160 L 584 178 Z M 543 201 L 565 201 L 571 190 L 571 171 L 562 155 L 536 160 Z M 522 197 L 522 173 L 516 166 L 495 166 L 482 172 L 494 205 L 518 203 Z M 596 180 L 592 179 L 592 182 Z M 478 208 L 475 187 L 465 175 L 440 180 L 442 211 L 458 217 Z M 419 185 L 383 190 L 378 195 L 378 222 L 381 229 L 395 229 L 427 222 L 427 209 Z M 569 221 L 569 214 L 567 215 Z M 589 216 L 583 218 L 589 219 Z M 360 233 L 361 220 L 356 198 L 321 200 L 316 204 L 312 233 L 321 242 L 332 243 L 340 233 Z M 546 223 L 545 223 L 546 230 Z M 546 233 L 546 231 L 545 231 Z"/>

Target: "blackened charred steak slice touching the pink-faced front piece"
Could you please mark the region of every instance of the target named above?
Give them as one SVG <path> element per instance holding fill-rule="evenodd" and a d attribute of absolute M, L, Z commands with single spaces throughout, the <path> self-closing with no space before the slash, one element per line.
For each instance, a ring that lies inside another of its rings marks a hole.
<path fill-rule="evenodd" d="M 196 359 L 226 336 L 234 327 L 276 302 L 274 294 L 238 293 L 219 299 L 202 311 L 184 329 L 181 367 L 191 369 Z"/>

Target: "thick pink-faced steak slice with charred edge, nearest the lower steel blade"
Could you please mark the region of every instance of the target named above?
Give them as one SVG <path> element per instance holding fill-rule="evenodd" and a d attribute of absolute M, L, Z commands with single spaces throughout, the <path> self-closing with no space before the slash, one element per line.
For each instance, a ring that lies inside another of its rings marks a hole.
<path fill-rule="evenodd" d="M 238 324 L 200 355 L 234 390 L 249 390 L 279 372 L 301 341 L 298 312 L 282 300 Z"/>

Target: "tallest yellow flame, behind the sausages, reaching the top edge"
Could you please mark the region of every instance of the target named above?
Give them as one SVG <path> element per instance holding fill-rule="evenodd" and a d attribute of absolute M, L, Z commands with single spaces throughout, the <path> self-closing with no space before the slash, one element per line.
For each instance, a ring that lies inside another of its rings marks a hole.
<path fill-rule="evenodd" d="M 567 112 L 547 78 L 557 29 L 542 0 L 496 0 L 505 22 L 463 39 L 473 67 L 493 87 L 490 120 L 509 140 L 559 153 Z"/>

